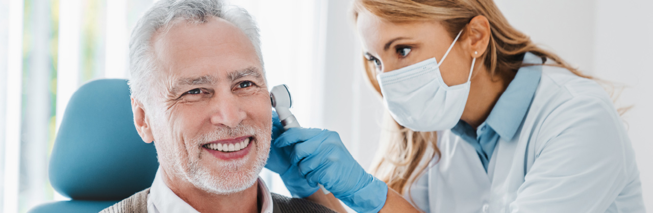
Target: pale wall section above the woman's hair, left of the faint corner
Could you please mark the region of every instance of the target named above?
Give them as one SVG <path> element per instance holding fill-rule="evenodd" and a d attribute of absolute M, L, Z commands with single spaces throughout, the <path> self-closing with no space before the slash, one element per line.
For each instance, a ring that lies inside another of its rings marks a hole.
<path fill-rule="evenodd" d="M 594 0 L 496 0 L 507 20 L 532 40 L 574 66 L 592 72 Z"/>

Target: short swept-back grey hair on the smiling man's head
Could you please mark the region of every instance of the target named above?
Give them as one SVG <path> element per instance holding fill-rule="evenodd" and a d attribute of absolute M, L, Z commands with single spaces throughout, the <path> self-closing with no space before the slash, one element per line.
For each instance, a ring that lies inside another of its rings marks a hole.
<path fill-rule="evenodd" d="M 129 87 L 133 98 L 144 102 L 151 95 L 148 87 L 152 84 L 148 81 L 153 79 L 153 71 L 157 69 L 152 36 L 159 30 L 165 33 L 172 27 L 170 23 L 176 20 L 201 24 L 212 17 L 222 18 L 242 29 L 253 44 L 263 66 L 259 28 L 244 8 L 227 6 L 222 0 L 159 0 L 138 20 L 131 33 Z"/>

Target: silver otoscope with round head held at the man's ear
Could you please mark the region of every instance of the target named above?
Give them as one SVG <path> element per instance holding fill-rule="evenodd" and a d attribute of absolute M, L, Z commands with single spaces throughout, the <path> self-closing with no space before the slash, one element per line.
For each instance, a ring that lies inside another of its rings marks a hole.
<path fill-rule="evenodd" d="M 281 121 L 281 125 L 283 125 L 283 130 L 300 127 L 295 115 L 290 112 L 290 107 L 293 106 L 293 98 L 290 96 L 288 86 L 282 84 L 272 87 L 272 91 L 270 91 L 270 100 L 272 101 L 272 107 L 276 109 L 277 114 L 279 115 L 279 121 Z M 318 184 L 318 186 L 320 186 L 325 195 L 330 193 L 325 189 L 325 186 L 322 186 L 322 184 Z"/>

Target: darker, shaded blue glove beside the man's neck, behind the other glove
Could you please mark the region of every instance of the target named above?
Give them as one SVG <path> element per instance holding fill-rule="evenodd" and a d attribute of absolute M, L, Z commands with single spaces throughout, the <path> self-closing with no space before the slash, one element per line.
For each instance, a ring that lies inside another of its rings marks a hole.
<path fill-rule="evenodd" d="M 299 168 L 291 164 L 291 152 L 294 146 L 275 145 L 276 138 L 282 133 L 283 125 L 279 121 L 279 115 L 276 111 L 272 111 L 272 142 L 270 142 L 270 158 L 265 167 L 281 176 L 281 180 L 293 197 L 308 197 L 317 192 L 319 187 L 310 186 L 304 175 L 299 173 Z"/>

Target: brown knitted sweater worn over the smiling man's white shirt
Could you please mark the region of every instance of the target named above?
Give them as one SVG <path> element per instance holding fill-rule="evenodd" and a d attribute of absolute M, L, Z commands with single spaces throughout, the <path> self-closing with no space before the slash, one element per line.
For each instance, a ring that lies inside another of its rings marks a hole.
<path fill-rule="evenodd" d="M 148 212 L 148 193 L 150 188 L 140 191 L 127 197 L 113 206 L 104 208 L 100 213 L 147 213 Z M 290 198 L 277 193 L 272 193 L 272 203 L 274 213 L 336 213 L 329 208 L 307 201 L 305 199 Z M 172 213 L 172 212 L 165 212 Z"/>

